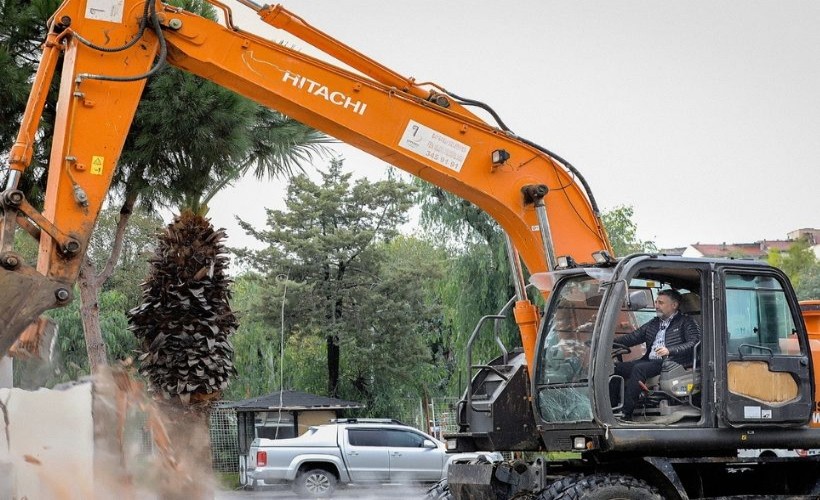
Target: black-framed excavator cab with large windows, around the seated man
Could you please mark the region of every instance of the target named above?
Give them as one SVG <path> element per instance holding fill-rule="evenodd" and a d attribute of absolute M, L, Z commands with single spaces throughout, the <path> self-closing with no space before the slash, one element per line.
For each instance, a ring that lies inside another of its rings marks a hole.
<path fill-rule="evenodd" d="M 647 436 L 657 430 L 667 453 L 694 453 L 706 440 L 728 453 L 738 448 L 736 429 L 808 423 L 808 339 L 776 269 L 636 255 L 552 274 L 532 380 L 547 449 L 652 453 L 657 443 Z M 669 288 L 681 293 L 679 313 L 692 318 L 701 338 L 688 362 L 666 361 L 645 381 L 633 421 L 622 422 L 624 381 L 615 366 L 644 356 L 645 345 L 618 339 L 655 317 L 653 301 Z"/>

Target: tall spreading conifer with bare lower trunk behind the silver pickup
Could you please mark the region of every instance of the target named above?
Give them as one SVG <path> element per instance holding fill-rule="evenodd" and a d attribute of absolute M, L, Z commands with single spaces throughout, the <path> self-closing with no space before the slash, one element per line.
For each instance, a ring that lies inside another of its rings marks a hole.
<path fill-rule="evenodd" d="M 343 362 L 370 363 L 362 353 L 396 334 L 382 331 L 383 325 L 374 320 L 377 311 L 366 306 L 375 304 L 371 297 L 384 278 L 380 272 L 386 255 L 380 244 L 398 234 L 413 189 L 392 179 L 352 183 L 341 161 L 331 162 L 321 175 L 321 184 L 305 175 L 295 177 L 288 187 L 287 210 L 269 210 L 266 230 L 241 222 L 267 248 L 238 254 L 266 276 L 262 310 L 269 312 L 268 323 L 280 324 L 284 301 L 289 339 L 318 335 L 324 340 L 326 392 L 335 397 L 342 392 Z M 417 310 L 415 305 L 407 307 Z M 404 318 L 412 323 L 412 318 Z M 357 391 L 368 393 L 365 375 L 353 379 Z"/>

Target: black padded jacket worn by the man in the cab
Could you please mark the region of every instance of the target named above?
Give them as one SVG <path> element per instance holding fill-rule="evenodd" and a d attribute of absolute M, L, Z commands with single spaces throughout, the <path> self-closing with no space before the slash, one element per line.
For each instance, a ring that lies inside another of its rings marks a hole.
<path fill-rule="evenodd" d="M 660 326 L 661 319 L 653 318 L 634 332 L 615 337 L 615 342 L 627 347 L 632 347 L 643 342 L 646 344 L 646 353 L 641 359 L 649 359 L 649 351 L 652 349 L 652 343 L 655 342 L 655 336 L 658 334 Z M 700 327 L 697 322 L 689 316 L 678 312 L 678 314 L 672 318 L 672 322 L 669 323 L 669 328 L 666 329 L 664 344 L 666 348 L 669 349 L 669 359 L 682 365 L 690 366 L 692 364 L 692 353 L 695 344 L 699 341 Z"/>

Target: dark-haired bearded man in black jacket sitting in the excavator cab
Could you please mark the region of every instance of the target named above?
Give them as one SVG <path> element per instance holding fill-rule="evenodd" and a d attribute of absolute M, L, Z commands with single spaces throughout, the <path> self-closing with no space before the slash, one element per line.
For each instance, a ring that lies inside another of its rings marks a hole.
<path fill-rule="evenodd" d="M 679 312 L 681 301 L 677 290 L 661 290 L 655 299 L 657 317 L 634 332 L 615 339 L 617 344 L 625 347 L 641 343 L 646 345 L 646 353 L 640 359 L 615 364 L 615 375 L 623 377 L 625 383 L 621 420 L 632 420 L 641 394 L 641 384 L 661 373 L 664 359 L 692 366 L 695 345 L 700 341 L 701 332 L 697 322 Z M 617 404 L 619 389 L 619 379 L 616 377 L 609 389 L 613 406 Z"/>

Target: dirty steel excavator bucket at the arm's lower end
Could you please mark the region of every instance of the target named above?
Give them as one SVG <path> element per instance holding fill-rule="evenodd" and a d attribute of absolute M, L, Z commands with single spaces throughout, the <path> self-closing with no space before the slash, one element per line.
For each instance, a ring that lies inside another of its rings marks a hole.
<path fill-rule="evenodd" d="M 0 268 L 0 355 L 5 355 L 43 312 L 65 305 L 70 299 L 71 293 L 65 284 L 31 268 L 14 271 Z M 34 328 L 34 336 L 49 331 L 46 325 L 35 324 Z"/>

